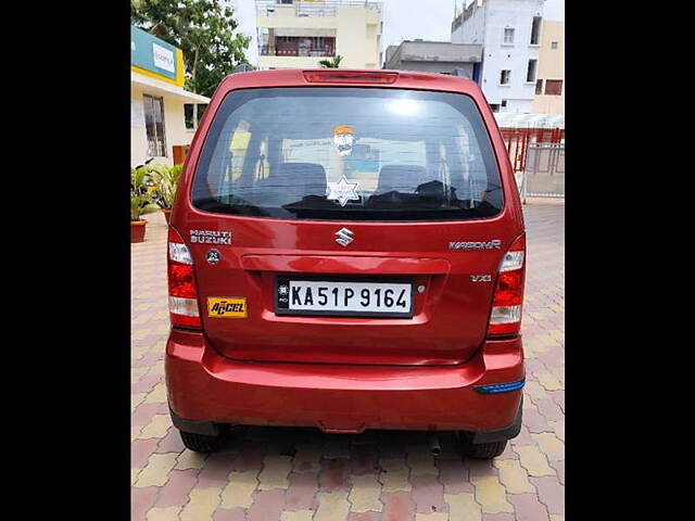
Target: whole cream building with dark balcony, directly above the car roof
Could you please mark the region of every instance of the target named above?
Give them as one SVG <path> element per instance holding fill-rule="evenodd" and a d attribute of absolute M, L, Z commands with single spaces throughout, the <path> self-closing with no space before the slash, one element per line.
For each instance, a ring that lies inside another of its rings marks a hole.
<path fill-rule="evenodd" d="M 379 68 L 382 3 L 357 0 L 256 0 L 258 68 Z"/>

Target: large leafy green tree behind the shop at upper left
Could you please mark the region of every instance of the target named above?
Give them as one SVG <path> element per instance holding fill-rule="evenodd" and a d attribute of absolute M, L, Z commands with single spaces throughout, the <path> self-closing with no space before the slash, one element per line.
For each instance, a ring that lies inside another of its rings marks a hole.
<path fill-rule="evenodd" d="M 249 63 L 251 37 L 235 35 L 233 9 L 217 0 L 131 0 L 130 22 L 184 51 L 186 88 L 211 97 L 235 67 Z"/>

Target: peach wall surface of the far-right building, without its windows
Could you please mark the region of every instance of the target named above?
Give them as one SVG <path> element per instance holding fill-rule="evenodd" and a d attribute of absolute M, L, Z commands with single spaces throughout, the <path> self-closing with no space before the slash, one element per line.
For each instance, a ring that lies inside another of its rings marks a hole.
<path fill-rule="evenodd" d="M 557 41 L 557 49 L 551 42 Z M 541 30 L 541 51 L 539 53 L 538 79 L 563 80 L 563 96 L 536 96 L 533 98 L 534 114 L 565 114 L 565 22 L 543 22 Z"/>

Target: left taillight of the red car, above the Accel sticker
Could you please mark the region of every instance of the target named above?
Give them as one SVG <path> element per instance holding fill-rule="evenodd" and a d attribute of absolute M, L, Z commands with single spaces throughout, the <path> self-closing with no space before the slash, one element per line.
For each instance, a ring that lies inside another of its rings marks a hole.
<path fill-rule="evenodd" d="M 170 227 L 167 267 L 172 326 L 200 329 L 193 257 L 181 236 Z"/>

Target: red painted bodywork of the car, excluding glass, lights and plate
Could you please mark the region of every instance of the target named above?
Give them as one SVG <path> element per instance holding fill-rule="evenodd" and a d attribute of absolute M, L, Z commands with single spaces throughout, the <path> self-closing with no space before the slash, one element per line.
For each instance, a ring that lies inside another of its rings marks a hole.
<path fill-rule="evenodd" d="M 370 73 L 374 73 L 371 71 Z M 235 74 L 217 88 L 186 158 L 172 226 L 195 266 L 204 333 L 173 331 L 167 344 L 169 403 L 192 420 L 313 425 L 325 430 L 488 430 L 508 425 L 520 392 L 483 395 L 473 384 L 523 376 L 520 338 L 485 339 L 502 256 L 523 232 L 521 203 L 494 116 L 479 87 L 452 76 L 397 72 L 393 84 L 329 87 L 417 89 L 470 97 L 488 128 L 497 160 L 504 208 L 465 221 L 288 220 L 219 215 L 191 203 L 192 178 L 212 119 L 235 89 L 320 87 L 302 71 Z M 334 232 L 349 226 L 350 247 Z M 215 245 L 222 259 L 205 260 L 210 244 L 191 244 L 189 230 L 232 231 Z M 500 239 L 500 250 L 451 251 L 450 241 Z M 275 278 L 283 275 L 395 277 L 424 285 L 412 318 L 278 316 Z M 210 318 L 207 296 L 245 297 L 247 318 Z M 251 361 L 252 360 L 252 361 Z M 434 427 L 432 427 L 434 425 Z"/>

